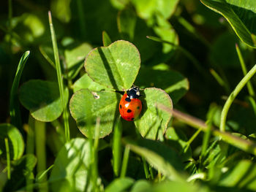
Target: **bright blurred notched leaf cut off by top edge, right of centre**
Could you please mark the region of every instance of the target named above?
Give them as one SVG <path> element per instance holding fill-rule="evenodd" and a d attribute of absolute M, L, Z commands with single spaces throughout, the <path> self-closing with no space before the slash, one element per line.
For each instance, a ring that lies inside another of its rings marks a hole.
<path fill-rule="evenodd" d="M 160 13 L 164 18 L 170 18 L 176 10 L 178 0 L 132 0 L 140 18 L 149 19 L 156 13 Z"/>

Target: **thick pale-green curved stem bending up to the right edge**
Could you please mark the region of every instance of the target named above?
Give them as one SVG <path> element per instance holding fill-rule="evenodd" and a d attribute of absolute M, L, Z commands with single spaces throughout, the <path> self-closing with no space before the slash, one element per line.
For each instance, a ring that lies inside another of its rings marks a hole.
<path fill-rule="evenodd" d="M 231 104 L 233 103 L 234 99 L 238 95 L 238 93 L 241 91 L 242 88 L 244 88 L 244 85 L 252 78 L 252 76 L 256 72 L 256 65 L 252 67 L 252 69 L 244 76 L 244 78 L 238 83 L 234 91 L 230 94 L 227 101 L 225 102 L 225 105 L 222 109 L 222 114 L 220 117 L 220 131 L 225 131 L 225 124 L 227 119 L 227 112 L 230 109 Z"/>

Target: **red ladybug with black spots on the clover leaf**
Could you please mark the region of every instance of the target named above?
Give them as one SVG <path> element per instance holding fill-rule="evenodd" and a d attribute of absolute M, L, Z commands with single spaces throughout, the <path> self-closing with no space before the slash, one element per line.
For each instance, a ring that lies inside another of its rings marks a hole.
<path fill-rule="evenodd" d="M 140 89 L 133 86 L 124 96 L 122 96 L 119 103 L 119 112 L 124 120 L 132 121 L 140 115 L 142 104 L 140 99 Z"/>

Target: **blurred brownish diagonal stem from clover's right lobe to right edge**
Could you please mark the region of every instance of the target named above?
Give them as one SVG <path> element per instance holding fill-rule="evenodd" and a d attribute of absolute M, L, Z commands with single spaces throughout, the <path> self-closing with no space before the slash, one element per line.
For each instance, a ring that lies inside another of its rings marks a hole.
<path fill-rule="evenodd" d="M 202 128 L 202 131 L 207 131 L 207 125 L 203 120 L 187 115 L 183 112 L 180 112 L 176 109 L 173 109 L 173 117 L 187 123 L 189 126 L 194 128 Z M 242 139 L 236 137 L 230 133 L 219 131 L 217 128 L 211 127 L 211 132 L 217 137 L 221 137 L 223 141 L 238 147 L 241 150 L 244 150 L 248 153 L 256 155 L 256 143 L 250 140 Z"/>

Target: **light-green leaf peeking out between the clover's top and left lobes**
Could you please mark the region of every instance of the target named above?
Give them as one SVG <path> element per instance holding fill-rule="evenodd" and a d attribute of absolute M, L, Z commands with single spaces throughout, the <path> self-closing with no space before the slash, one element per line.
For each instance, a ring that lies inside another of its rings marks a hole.
<path fill-rule="evenodd" d="M 74 93 L 82 88 L 88 88 L 90 91 L 111 90 L 110 88 L 107 88 L 91 80 L 87 73 L 83 74 L 83 76 L 80 77 L 73 85 Z"/>

